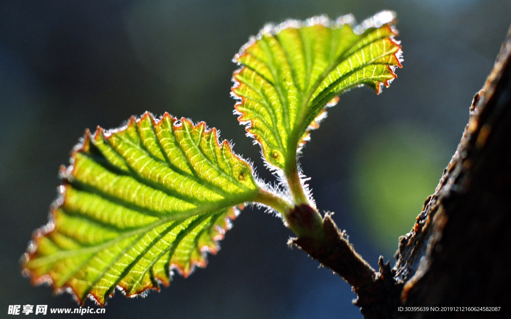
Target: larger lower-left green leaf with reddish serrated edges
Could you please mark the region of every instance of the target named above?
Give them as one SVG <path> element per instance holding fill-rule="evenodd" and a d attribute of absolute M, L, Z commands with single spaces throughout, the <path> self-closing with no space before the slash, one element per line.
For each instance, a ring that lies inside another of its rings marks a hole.
<path fill-rule="evenodd" d="M 104 305 L 187 277 L 261 190 L 250 165 L 217 131 L 149 113 L 105 132 L 88 131 L 61 168 L 61 196 L 36 231 L 23 264 L 34 283 L 70 288 Z"/>

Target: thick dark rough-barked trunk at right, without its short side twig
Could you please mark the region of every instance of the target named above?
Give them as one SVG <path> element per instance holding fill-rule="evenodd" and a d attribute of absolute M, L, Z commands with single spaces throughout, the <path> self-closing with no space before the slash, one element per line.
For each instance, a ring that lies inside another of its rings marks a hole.
<path fill-rule="evenodd" d="M 400 238 L 403 306 L 499 312 L 398 312 L 399 318 L 511 317 L 511 29 L 435 193 Z"/>

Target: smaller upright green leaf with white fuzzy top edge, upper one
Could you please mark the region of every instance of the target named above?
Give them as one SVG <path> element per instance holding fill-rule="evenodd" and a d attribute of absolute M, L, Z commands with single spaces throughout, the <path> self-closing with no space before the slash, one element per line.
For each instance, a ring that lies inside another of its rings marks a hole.
<path fill-rule="evenodd" d="M 266 26 L 234 58 L 242 66 L 232 89 L 240 99 L 238 120 L 261 144 L 266 161 L 286 173 L 336 96 L 362 85 L 380 93 L 401 67 L 392 12 L 355 28 L 353 21 L 351 15 L 336 21 L 320 16 Z"/>

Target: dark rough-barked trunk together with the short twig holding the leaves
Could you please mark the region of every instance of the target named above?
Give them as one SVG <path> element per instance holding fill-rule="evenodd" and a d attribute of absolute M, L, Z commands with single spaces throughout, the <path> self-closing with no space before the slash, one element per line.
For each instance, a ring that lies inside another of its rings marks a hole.
<path fill-rule="evenodd" d="M 307 209 L 294 211 L 301 216 Z M 290 243 L 350 283 L 366 319 L 511 318 L 511 28 L 474 96 L 456 153 L 412 231 L 400 238 L 396 265 L 380 258 L 375 272 L 329 215 L 322 233 Z M 398 310 L 426 306 L 439 309 Z"/>

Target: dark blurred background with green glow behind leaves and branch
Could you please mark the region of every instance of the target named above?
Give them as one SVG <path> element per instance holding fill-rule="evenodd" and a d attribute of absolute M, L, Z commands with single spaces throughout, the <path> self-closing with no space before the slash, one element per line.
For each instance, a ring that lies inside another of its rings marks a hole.
<path fill-rule="evenodd" d="M 9 305 L 77 307 L 66 293 L 31 286 L 19 257 L 47 223 L 58 168 L 85 128 L 118 127 L 146 110 L 204 120 L 273 182 L 232 114 L 231 58 L 266 22 L 347 13 L 361 22 L 383 9 L 399 19 L 398 79 L 379 96 L 343 94 L 300 158 L 318 208 L 335 212 L 375 268 L 380 255 L 394 263 L 398 237 L 454 153 L 511 2 L 0 1 L 0 317 Z M 290 250 L 291 235 L 274 216 L 245 209 L 207 268 L 145 299 L 117 292 L 106 314 L 88 316 L 361 318 L 351 287 Z"/>

